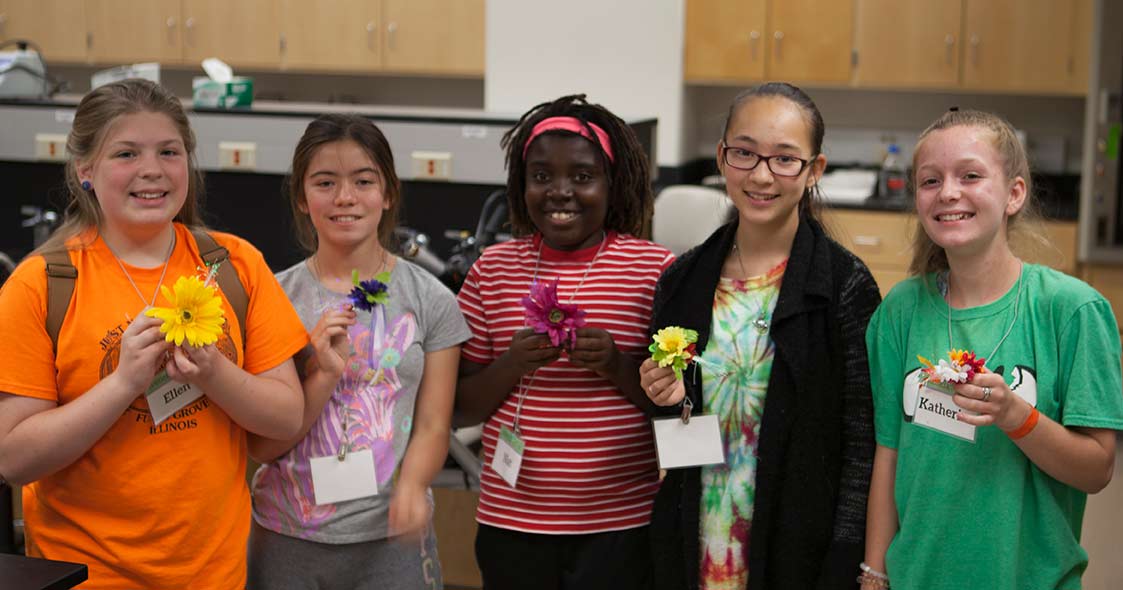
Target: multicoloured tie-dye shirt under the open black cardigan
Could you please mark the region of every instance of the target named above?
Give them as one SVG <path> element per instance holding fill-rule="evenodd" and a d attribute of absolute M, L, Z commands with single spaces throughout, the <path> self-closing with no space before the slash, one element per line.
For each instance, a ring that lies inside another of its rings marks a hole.
<path fill-rule="evenodd" d="M 775 346 L 768 334 L 787 262 L 746 280 L 722 278 L 702 358 L 706 414 L 718 415 L 725 463 L 702 468 L 700 588 L 746 587 L 756 500 L 757 439 Z"/>

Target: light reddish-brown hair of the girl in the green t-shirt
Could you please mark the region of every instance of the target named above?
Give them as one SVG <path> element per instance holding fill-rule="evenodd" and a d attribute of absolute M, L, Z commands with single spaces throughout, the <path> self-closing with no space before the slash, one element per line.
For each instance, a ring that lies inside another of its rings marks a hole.
<path fill-rule="evenodd" d="M 944 112 L 932 125 L 929 125 L 916 140 L 913 149 L 913 172 L 909 176 L 910 190 L 915 194 L 916 188 L 916 154 L 920 153 L 924 140 L 935 131 L 950 129 L 953 127 L 975 127 L 987 131 L 990 136 L 990 145 L 998 152 L 1003 163 L 1003 174 L 1006 180 L 1013 182 L 1021 178 L 1025 182 L 1025 201 L 1022 208 L 1006 218 L 1006 238 L 1013 251 L 1033 251 L 1041 247 L 1052 246 L 1044 238 L 1044 230 L 1041 225 L 1041 216 L 1038 212 L 1037 201 L 1033 197 L 1033 181 L 1030 176 L 1030 161 L 1025 154 L 1025 147 L 1017 139 L 1013 126 L 1006 119 L 979 110 L 949 110 Z M 932 242 L 932 238 L 924 232 L 924 227 L 916 218 L 916 226 L 913 230 L 912 261 L 909 263 L 909 274 L 925 274 L 930 272 L 948 270 L 948 253 L 942 247 Z M 1056 249 L 1056 248 L 1053 248 Z"/>

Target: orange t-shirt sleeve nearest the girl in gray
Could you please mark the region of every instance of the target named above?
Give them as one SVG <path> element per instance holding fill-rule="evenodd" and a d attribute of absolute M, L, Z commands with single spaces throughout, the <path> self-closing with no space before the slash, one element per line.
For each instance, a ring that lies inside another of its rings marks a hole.
<path fill-rule="evenodd" d="M 308 332 L 262 253 L 240 238 L 223 242 L 249 297 L 243 369 L 258 374 L 303 348 L 309 342 Z"/>

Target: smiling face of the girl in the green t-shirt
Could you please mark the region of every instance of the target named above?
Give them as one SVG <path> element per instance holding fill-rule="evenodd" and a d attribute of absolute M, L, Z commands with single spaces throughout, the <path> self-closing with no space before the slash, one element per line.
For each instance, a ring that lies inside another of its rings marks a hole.
<path fill-rule="evenodd" d="M 949 258 L 1008 251 L 1007 218 L 1025 202 L 1025 181 L 1006 178 L 992 133 L 956 126 L 916 148 L 916 215 Z"/>

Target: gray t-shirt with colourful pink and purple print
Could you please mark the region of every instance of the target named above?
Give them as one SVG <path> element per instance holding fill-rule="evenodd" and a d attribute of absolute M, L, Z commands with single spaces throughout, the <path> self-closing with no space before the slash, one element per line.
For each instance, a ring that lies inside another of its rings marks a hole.
<path fill-rule="evenodd" d="M 304 327 L 347 296 L 323 289 L 300 262 L 277 274 Z M 413 407 L 424 354 L 456 346 L 471 335 L 453 293 L 435 276 L 398 258 L 390 299 L 373 312 L 356 309 L 350 328 L 355 354 L 331 399 L 308 435 L 254 475 L 254 519 L 284 535 L 319 543 L 359 543 L 386 537 L 390 498 L 413 427 Z M 312 354 L 296 355 L 302 370 Z M 334 456 L 344 442 L 344 414 L 351 451 L 374 454 L 378 494 L 316 505 L 310 460 Z"/>

